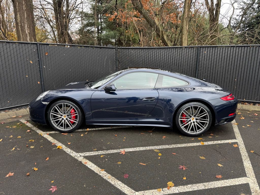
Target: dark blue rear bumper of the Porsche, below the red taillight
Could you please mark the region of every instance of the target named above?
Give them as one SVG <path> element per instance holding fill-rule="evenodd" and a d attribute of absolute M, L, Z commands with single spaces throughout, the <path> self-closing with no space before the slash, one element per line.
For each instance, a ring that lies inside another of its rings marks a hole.
<path fill-rule="evenodd" d="M 229 116 L 229 114 L 236 113 L 238 103 L 237 99 L 224 101 L 218 98 L 210 100 L 209 102 L 215 107 L 215 125 L 223 125 L 236 118 L 236 114 L 231 116 Z"/>

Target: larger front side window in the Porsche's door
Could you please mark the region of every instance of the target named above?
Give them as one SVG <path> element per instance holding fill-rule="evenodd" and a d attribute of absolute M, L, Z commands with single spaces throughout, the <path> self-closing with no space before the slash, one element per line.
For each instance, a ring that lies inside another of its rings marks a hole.
<path fill-rule="evenodd" d="M 116 89 L 153 89 L 158 74 L 147 72 L 134 72 L 121 76 L 113 81 Z"/>

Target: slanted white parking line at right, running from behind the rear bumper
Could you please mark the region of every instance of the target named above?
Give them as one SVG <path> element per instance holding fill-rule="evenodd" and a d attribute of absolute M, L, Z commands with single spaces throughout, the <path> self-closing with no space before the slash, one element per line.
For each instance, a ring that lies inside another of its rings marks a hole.
<path fill-rule="evenodd" d="M 235 120 L 233 122 L 236 123 Z M 251 179 L 251 182 L 249 183 L 249 185 L 250 185 L 252 195 L 259 195 L 260 189 L 259 189 L 259 186 L 257 184 L 257 180 L 256 180 L 256 176 L 255 176 L 253 167 L 252 167 L 250 159 L 248 157 L 248 153 L 246 152 L 245 144 L 242 140 L 241 134 L 239 133 L 238 127 L 234 123 L 232 124 L 232 126 L 233 126 L 233 129 L 234 129 L 234 132 L 235 132 L 236 139 L 238 141 L 238 147 L 239 147 L 239 150 L 240 150 L 240 153 L 241 153 L 241 156 L 242 156 L 242 160 L 243 160 L 243 163 L 244 163 L 246 176 Z"/>

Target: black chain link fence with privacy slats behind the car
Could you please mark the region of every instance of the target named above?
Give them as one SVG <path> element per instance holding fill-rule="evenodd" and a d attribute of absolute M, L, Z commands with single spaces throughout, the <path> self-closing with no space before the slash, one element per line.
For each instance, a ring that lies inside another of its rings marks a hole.
<path fill-rule="evenodd" d="M 183 73 L 218 84 L 239 100 L 260 102 L 259 54 L 259 45 L 118 48 L 0 41 L 0 109 L 128 67 Z"/>

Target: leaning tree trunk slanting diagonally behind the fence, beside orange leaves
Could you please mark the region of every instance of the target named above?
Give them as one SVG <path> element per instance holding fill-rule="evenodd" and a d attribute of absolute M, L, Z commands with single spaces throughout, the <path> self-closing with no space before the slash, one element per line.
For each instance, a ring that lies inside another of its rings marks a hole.
<path fill-rule="evenodd" d="M 150 25 L 150 27 L 152 27 L 155 30 L 155 33 L 160 38 L 161 42 L 165 46 L 172 46 L 172 43 L 168 40 L 167 36 L 165 35 L 164 30 L 162 29 L 162 27 L 160 26 L 158 21 L 156 19 L 152 18 L 149 15 L 148 11 L 143 9 L 140 1 L 139 0 L 131 0 L 131 1 L 132 1 L 134 8 L 145 18 L 145 20 Z"/>

